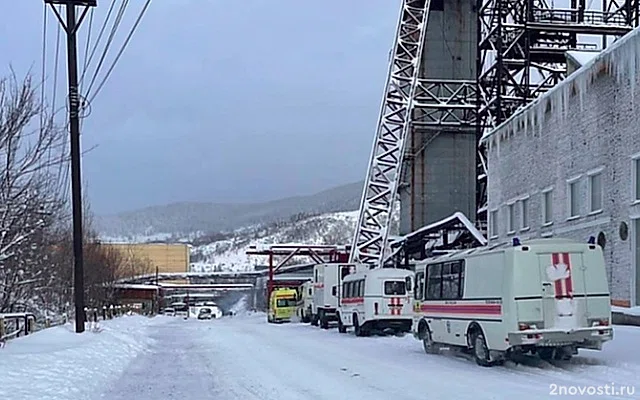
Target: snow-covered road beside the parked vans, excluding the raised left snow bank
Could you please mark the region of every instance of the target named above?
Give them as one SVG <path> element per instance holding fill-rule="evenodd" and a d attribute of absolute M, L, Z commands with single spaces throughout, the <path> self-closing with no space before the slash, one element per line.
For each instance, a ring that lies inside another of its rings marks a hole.
<path fill-rule="evenodd" d="M 152 351 L 101 398 L 525 400 L 562 398 L 552 395 L 552 385 L 640 386 L 640 330 L 626 327 L 616 328 L 604 352 L 584 352 L 570 363 L 530 359 L 494 368 L 452 355 L 428 356 L 409 336 L 356 338 L 303 324 L 271 325 L 260 314 L 175 318 L 149 329 Z M 600 397 L 640 398 L 637 391 Z"/>

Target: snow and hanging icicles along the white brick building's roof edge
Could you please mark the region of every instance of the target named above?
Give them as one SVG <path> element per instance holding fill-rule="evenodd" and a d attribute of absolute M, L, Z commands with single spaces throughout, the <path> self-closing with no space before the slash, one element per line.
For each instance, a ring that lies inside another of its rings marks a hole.
<path fill-rule="evenodd" d="M 616 81 L 624 77 L 630 78 L 631 94 L 634 95 L 636 84 L 636 70 L 640 68 L 640 27 L 633 29 L 625 36 L 616 40 L 611 46 L 602 50 L 597 56 L 591 58 L 573 74 L 562 82 L 548 90 L 546 93 L 516 111 L 510 118 L 498 125 L 495 129 L 485 132 L 481 139 L 485 143 L 494 133 L 506 130 L 516 131 L 518 125 L 524 125 L 525 132 L 529 127 L 538 126 L 537 121 L 544 119 L 545 107 L 550 102 L 551 109 L 561 112 L 567 110 L 573 85 L 579 97 L 580 107 L 583 104 L 583 95 L 587 88 L 597 79 L 601 68 L 605 66 L 609 74 L 615 76 Z"/>

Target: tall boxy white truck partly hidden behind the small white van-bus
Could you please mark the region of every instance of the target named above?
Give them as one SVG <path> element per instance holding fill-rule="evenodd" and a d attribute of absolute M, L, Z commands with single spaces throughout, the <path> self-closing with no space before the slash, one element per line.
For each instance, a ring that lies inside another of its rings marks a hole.
<path fill-rule="evenodd" d="M 349 274 L 369 270 L 367 264 L 316 264 L 313 267 L 313 304 L 311 325 L 329 329 L 330 322 L 338 321 L 338 290 Z"/>

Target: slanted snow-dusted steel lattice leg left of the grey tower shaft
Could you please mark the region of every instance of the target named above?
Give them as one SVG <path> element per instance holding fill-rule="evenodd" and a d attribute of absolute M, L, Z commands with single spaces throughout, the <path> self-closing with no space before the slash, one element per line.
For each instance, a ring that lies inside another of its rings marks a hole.
<path fill-rule="evenodd" d="M 349 262 L 381 266 L 409 136 L 431 0 L 403 0 Z"/>

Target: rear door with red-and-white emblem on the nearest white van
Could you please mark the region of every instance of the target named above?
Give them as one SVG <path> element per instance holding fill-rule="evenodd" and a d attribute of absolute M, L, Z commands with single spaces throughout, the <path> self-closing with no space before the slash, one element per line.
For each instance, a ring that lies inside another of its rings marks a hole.
<path fill-rule="evenodd" d="M 538 253 L 545 328 L 587 326 L 587 266 L 582 252 Z"/>

